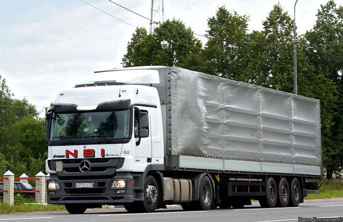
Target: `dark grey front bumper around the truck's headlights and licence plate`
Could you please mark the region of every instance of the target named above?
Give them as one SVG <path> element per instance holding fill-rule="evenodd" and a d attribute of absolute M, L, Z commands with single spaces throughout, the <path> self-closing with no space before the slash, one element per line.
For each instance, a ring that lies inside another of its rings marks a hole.
<path fill-rule="evenodd" d="M 110 188 L 111 181 L 114 179 L 126 179 L 126 187 Z M 58 181 L 60 189 L 47 189 L 47 202 L 48 204 L 106 205 L 121 205 L 123 203 L 130 203 L 133 202 L 133 183 L 130 183 L 130 180 L 133 180 L 133 177 L 129 172 L 118 172 L 114 178 L 96 180 L 92 180 L 91 176 L 89 176 L 89 179 L 83 178 L 82 180 L 61 180 L 57 174 L 50 174 L 47 184 L 49 181 Z M 94 188 L 75 188 L 75 182 L 93 182 Z M 125 193 L 117 194 L 117 190 L 125 190 Z M 51 192 L 55 192 L 55 194 L 52 195 Z"/>

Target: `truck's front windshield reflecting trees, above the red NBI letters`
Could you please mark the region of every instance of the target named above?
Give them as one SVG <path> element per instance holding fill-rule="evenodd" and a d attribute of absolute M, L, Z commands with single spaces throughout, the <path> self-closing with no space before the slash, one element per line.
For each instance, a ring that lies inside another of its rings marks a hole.
<path fill-rule="evenodd" d="M 67 113 L 52 116 L 50 140 L 126 138 L 130 109 L 110 112 Z"/>

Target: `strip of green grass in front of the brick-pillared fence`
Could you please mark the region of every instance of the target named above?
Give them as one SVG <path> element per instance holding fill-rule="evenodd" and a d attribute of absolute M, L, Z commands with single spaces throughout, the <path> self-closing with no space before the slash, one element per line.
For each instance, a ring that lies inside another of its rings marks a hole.
<path fill-rule="evenodd" d="M 2 213 L 17 213 L 17 212 L 32 212 L 32 211 L 49 211 L 49 210 L 65 210 L 64 205 L 40 205 L 40 204 L 27 204 L 27 205 L 0 205 L 0 214 Z"/>

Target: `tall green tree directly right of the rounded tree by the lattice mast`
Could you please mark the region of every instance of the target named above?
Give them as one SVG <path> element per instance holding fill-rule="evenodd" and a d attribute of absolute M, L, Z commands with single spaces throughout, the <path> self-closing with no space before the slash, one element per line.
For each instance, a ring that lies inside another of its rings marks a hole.
<path fill-rule="evenodd" d="M 242 81 L 242 72 L 246 69 L 244 63 L 246 54 L 247 27 L 249 16 L 230 12 L 223 5 L 216 10 L 215 16 L 207 20 L 209 37 L 201 60 L 198 60 L 197 71 Z M 222 40 L 221 40 L 222 39 Z M 233 41 L 234 40 L 234 41 Z"/>

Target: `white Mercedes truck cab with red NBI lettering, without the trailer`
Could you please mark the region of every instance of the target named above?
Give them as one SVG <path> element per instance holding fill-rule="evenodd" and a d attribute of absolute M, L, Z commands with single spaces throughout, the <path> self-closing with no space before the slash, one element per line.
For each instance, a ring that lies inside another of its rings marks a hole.
<path fill-rule="evenodd" d="M 149 86 L 156 83 L 156 70 L 122 70 L 60 91 L 47 113 L 48 204 L 80 212 L 144 198 L 147 171 L 164 169 L 161 106 Z"/>

